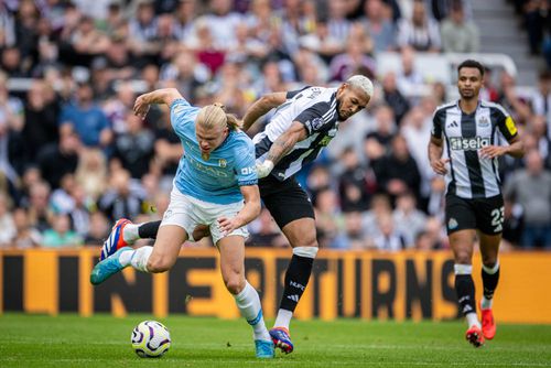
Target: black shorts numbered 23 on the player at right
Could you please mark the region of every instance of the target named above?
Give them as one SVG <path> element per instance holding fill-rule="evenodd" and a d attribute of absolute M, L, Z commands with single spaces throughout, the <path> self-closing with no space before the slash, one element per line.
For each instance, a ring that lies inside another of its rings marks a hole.
<path fill-rule="evenodd" d="M 446 195 L 447 235 L 465 229 L 478 229 L 487 235 L 501 234 L 504 228 L 504 197 L 461 198 Z"/>

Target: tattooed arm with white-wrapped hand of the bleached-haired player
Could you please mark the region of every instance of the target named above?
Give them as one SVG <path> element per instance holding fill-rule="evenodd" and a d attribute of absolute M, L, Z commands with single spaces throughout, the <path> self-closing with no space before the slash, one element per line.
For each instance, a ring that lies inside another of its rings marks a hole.
<path fill-rule="evenodd" d="M 306 137 L 306 127 L 300 121 L 293 121 L 291 127 L 273 142 L 264 162 L 257 164 L 258 178 L 268 176 L 281 158 L 291 151 L 296 142 L 304 140 Z"/>

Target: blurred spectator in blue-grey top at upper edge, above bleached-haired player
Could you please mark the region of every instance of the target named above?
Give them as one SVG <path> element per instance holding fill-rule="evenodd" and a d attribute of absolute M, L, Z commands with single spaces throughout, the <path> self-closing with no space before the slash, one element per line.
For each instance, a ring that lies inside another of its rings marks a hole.
<path fill-rule="evenodd" d="M 372 40 L 375 53 L 396 48 L 396 29 L 387 7 L 381 0 L 367 0 L 364 6 L 361 23 Z"/>

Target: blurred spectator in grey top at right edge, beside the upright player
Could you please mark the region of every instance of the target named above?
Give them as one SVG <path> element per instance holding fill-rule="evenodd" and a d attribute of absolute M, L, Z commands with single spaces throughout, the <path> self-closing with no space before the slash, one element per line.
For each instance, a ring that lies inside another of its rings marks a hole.
<path fill-rule="evenodd" d="M 514 174 L 505 186 L 505 196 L 522 206 L 525 229 L 520 246 L 551 249 L 551 172 L 543 169 L 537 150 L 527 153 L 526 170 Z"/>

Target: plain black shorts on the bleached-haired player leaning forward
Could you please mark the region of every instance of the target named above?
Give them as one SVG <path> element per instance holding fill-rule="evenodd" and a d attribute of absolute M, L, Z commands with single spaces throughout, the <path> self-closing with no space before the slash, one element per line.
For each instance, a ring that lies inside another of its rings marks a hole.
<path fill-rule="evenodd" d="M 315 218 L 310 197 L 294 177 L 280 182 L 268 175 L 258 182 L 258 186 L 266 208 L 280 229 L 295 219 Z"/>

